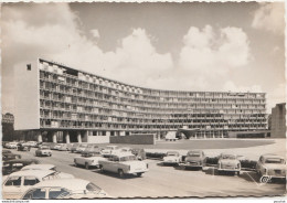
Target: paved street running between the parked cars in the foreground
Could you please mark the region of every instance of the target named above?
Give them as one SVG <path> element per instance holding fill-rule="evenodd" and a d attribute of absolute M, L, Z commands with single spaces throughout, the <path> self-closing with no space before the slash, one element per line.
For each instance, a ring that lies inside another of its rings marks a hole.
<path fill-rule="evenodd" d="M 50 157 L 34 157 L 35 149 L 22 154 L 22 158 L 33 158 L 42 163 L 51 163 L 57 170 L 72 173 L 76 178 L 89 180 L 103 188 L 115 197 L 163 197 L 163 196 L 263 196 L 283 195 L 284 183 L 258 183 L 254 172 L 242 172 L 236 175 L 214 175 L 213 168 L 204 171 L 185 171 L 180 167 L 162 167 L 159 160 L 146 160 L 149 163 L 149 172 L 141 178 L 127 177 L 120 179 L 117 174 L 100 173 L 97 169 L 86 170 L 76 168 L 73 158 L 79 154 L 66 151 L 53 151 Z"/>

